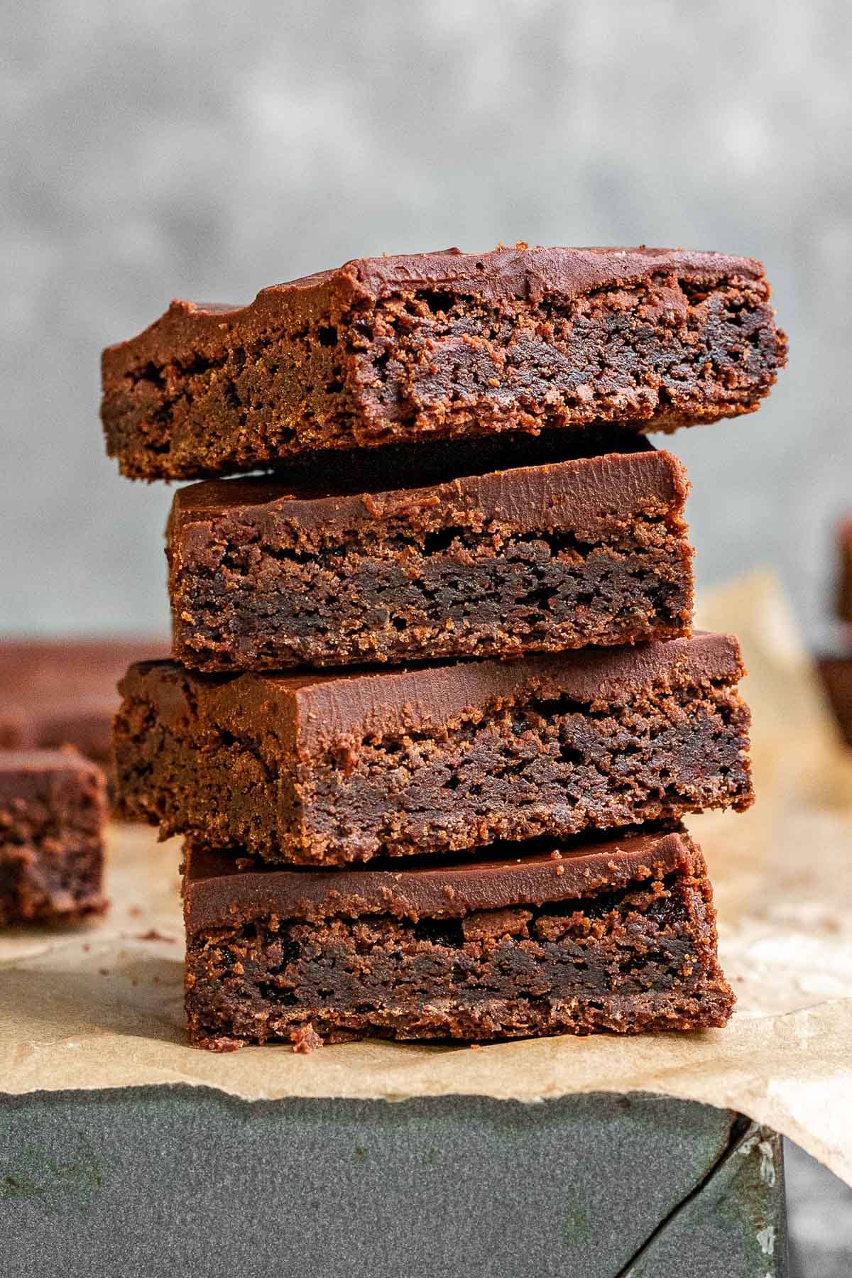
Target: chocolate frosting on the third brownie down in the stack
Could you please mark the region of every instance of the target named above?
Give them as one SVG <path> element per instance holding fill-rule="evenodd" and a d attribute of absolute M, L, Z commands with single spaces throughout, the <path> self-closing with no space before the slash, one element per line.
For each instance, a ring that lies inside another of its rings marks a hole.
<path fill-rule="evenodd" d="M 623 704 L 654 686 L 733 684 L 743 675 L 734 635 L 622 648 L 460 661 L 409 670 L 321 674 L 197 675 L 176 662 L 139 662 L 119 685 L 151 702 L 165 727 L 203 713 L 220 728 L 266 734 L 299 755 L 319 754 L 405 731 L 439 731 L 519 699 L 566 697 Z"/>

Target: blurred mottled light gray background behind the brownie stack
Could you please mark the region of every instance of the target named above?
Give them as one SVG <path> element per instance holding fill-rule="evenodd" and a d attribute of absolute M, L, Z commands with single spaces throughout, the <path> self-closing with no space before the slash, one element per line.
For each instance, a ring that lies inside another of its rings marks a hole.
<path fill-rule="evenodd" d="M 105 344 L 178 295 L 525 239 L 766 263 L 788 371 L 669 446 L 700 581 L 774 565 L 820 640 L 852 510 L 844 0 L 29 0 L 3 45 L 0 630 L 166 626 L 170 492 L 103 455 Z M 848 1275 L 849 1195 L 789 1173 L 796 1273 Z"/>

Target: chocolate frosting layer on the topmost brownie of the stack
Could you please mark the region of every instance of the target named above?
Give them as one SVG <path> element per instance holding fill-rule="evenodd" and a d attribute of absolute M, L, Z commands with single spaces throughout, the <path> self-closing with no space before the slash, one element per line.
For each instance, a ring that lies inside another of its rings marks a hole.
<path fill-rule="evenodd" d="M 571 302 L 593 289 L 632 285 L 651 275 L 673 273 L 696 284 L 731 276 L 763 279 L 763 267 L 747 257 L 667 248 L 516 248 L 488 253 L 439 253 L 356 258 L 336 271 L 319 271 L 262 289 L 245 305 L 175 299 L 153 325 L 129 341 L 107 346 L 103 374 L 120 377 L 153 360 L 180 362 L 193 350 L 212 351 L 236 330 L 247 340 L 281 328 L 282 317 L 337 322 L 353 305 L 413 293 L 450 289 L 453 294 L 499 303 L 512 298 L 536 303 Z"/>

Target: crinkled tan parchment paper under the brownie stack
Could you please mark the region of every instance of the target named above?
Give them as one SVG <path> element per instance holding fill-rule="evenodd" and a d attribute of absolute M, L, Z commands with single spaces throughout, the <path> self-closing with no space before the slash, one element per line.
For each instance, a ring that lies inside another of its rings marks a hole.
<path fill-rule="evenodd" d="M 478 1049 L 370 1042 L 310 1056 L 190 1048 L 179 845 L 116 826 L 103 920 L 0 935 L 0 1090 L 181 1082 L 245 1099 L 528 1102 L 651 1091 L 746 1113 L 852 1183 L 852 762 L 770 578 L 717 593 L 700 620 L 740 635 L 755 720 L 756 806 L 690 822 L 710 864 L 722 964 L 738 996 L 727 1029 Z"/>

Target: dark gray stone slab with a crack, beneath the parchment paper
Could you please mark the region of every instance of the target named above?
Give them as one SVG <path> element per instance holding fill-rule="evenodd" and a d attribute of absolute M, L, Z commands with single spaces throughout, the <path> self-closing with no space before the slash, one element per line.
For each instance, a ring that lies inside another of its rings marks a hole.
<path fill-rule="evenodd" d="M 700 1205 L 713 1222 L 703 1237 L 722 1240 L 715 1258 L 703 1247 L 703 1278 L 775 1278 L 783 1249 L 755 1266 L 754 1235 L 780 1229 L 782 1177 L 752 1185 L 746 1240 L 734 1204 L 742 1185 L 728 1174 L 732 1159 L 747 1162 L 732 1154 L 737 1140 L 734 1114 L 653 1097 L 539 1105 L 249 1104 L 181 1088 L 3 1097 L 0 1269 L 4 1278 L 673 1278 L 687 1270 L 649 1269 L 648 1249 L 659 1251 L 672 1226 L 682 1235 Z M 678 1250 L 688 1251 L 688 1232 Z"/>

